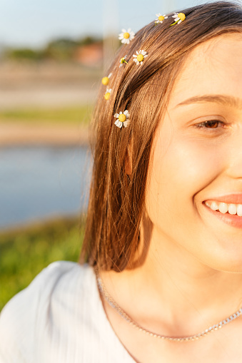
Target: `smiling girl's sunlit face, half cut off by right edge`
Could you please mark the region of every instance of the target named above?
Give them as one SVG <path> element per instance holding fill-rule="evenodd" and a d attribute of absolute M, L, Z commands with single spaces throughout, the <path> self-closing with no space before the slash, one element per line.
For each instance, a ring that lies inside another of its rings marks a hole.
<path fill-rule="evenodd" d="M 242 272 L 242 35 L 188 56 L 153 142 L 146 211 L 156 245 Z"/>

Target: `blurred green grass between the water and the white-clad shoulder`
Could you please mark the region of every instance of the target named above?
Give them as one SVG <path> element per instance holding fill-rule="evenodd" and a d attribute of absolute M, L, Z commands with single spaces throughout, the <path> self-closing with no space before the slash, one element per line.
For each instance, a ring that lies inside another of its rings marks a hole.
<path fill-rule="evenodd" d="M 55 220 L 0 234 L 0 310 L 56 260 L 78 261 L 84 219 Z"/>

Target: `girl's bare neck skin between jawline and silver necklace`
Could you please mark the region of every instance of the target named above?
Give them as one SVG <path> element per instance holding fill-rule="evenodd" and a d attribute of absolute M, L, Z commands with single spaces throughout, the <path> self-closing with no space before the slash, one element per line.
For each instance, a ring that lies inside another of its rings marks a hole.
<path fill-rule="evenodd" d="M 241 273 L 204 265 L 156 230 L 149 238 L 143 265 L 114 272 L 105 282 L 136 322 L 154 332 L 186 336 L 217 324 L 242 306 Z M 141 237 L 141 246 L 142 242 Z"/>

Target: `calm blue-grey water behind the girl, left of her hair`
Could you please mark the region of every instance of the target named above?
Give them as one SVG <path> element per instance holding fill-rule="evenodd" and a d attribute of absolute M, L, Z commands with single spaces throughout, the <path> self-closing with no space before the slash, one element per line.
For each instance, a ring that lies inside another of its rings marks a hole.
<path fill-rule="evenodd" d="M 87 148 L 0 149 L 0 228 L 79 213 L 90 174 Z"/>

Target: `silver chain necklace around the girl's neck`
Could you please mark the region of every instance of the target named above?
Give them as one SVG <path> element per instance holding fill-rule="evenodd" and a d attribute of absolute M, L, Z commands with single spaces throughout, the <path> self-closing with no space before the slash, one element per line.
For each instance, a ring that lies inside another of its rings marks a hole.
<path fill-rule="evenodd" d="M 157 334 L 154 332 L 151 332 L 150 330 L 144 329 L 143 327 L 141 327 L 137 322 L 135 322 L 131 317 L 128 316 L 128 314 L 126 314 L 126 312 L 116 303 L 116 301 L 109 295 L 109 292 L 106 290 L 106 287 L 104 285 L 103 280 L 101 279 L 100 275 L 99 275 L 99 271 L 97 269 L 95 269 L 96 272 L 96 280 L 97 280 L 97 284 L 99 287 L 99 291 L 101 296 L 104 297 L 104 299 L 106 300 L 106 302 L 109 303 L 109 305 L 116 310 L 116 312 L 119 313 L 119 315 L 121 315 L 121 317 L 123 319 L 126 320 L 126 322 L 128 322 L 129 324 L 131 324 L 132 327 L 138 329 L 140 332 L 143 332 L 144 334 L 150 335 L 151 337 L 154 338 L 158 338 L 158 339 L 165 339 L 165 340 L 172 340 L 173 342 L 189 342 L 189 341 L 193 341 L 193 340 L 198 340 L 201 337 L 206 336 L 208 333 L 213 332 L 215 330 L 221 329 L 221 327 L 223 327 L 224 325 L 228 324 L 229 322 L 232 322 L 232 320 L 237 319 L 237 317 L 239 317 L 240 315 L 242 315 L 242 307 L 241 309 L 237 310 L 235 313 L 233 313 L 233 315 L 230 315 L 229 317 L 227 317 L 224 320 L 221 320 L 221 322 L 218 322 L 218 324 L 213 325 L 212 327 L 209 327 L 206 330 L 203 330 L 203 332 L 195 334 L 195 335 L 191 335 L 190 337 L 167 337 L 166 335 L 161 335 L 161 334 Z"/>

